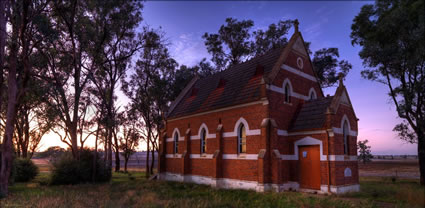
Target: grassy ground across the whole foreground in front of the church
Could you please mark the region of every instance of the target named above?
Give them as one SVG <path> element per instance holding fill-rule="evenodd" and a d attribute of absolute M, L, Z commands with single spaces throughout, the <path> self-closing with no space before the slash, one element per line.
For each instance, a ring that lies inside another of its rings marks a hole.
<path fill-rule="evenodd" d="M 142 172 L 114 173 L 104 184 L 48 186 L 49 173 L 16 183 L 0 207 L 424 207 L 417 179 L 361 177 L 361 191 L 341 196 L 299 192 L 256 193 L 149 181 Z"/>

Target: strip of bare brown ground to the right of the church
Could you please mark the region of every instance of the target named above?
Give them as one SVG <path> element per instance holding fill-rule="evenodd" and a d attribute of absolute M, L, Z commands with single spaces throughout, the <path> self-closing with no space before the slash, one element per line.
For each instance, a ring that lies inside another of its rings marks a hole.
<path fill-rule="evenodd" d="M 370 163 L 359 163 L 361 177 L 399 177 L 419 179 L 419 163 L 417 160 L 374 160 Z"/>

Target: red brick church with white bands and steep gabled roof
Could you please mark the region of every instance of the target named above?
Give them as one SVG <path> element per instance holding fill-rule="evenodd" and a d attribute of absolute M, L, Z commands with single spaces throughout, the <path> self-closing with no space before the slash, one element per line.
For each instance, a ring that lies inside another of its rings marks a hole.
<path fill-rule="evenodd" d="M 296 27 L 288 44 L 195 77 L 172 103 L 159 178 L 256 191 L 358 191 L 357 117 L 324 96 Z"/>

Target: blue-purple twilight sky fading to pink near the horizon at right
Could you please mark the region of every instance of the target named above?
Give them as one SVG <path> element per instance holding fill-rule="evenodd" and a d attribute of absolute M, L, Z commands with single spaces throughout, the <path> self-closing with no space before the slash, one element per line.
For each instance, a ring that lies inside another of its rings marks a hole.
<path fill-rule="evenodd" d="M 350 32 L 353 18 L 364 4 L 373 4 L 373 1 L 148 1 L 142 11 L 142 25 L 161 27 L 172 56 L 179 64 L 191 66 L 210 57 L 201 36 L 205 32 L 216 33 L 227 17 L 251 19 L 254 29 L 266 29 L 279 20 L 298 19 L 300 31 L 304 39 L 311 42 L 312 51 L 337 47 L 340 57 L 353 65 L 345 85 L 360 119 L 358 140 L 368 139 L 373 154 L 417 154 L 416 145 L 402 142 L 392 131 L 401 120 L 387 95 L 387 87 L 360 76 L 363 69 L 358 56 L 360 47 L 351 45 Z M 292 33 L 293 30 L 289 36 Z M 333 95 L 335 88 L 324 92 Z M 121 93 L 118 103 L 125 105 L 126 102 Z M 41 150 L 52 145 L 64 146 L 54 134 L 44 137 L 42 143 Z M 87 141 L 88 145 L 91 143 Z"/>

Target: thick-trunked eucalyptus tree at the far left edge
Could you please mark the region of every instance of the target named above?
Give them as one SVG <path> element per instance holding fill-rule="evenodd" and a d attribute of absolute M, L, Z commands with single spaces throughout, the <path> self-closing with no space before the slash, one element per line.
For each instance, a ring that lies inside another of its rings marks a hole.
<path fill-rule="evenodd" d="M 40 44 L 37 37 L 42 34 L 43 22 L 38 21 L 46 16 L 46 1 L 4 1 L 8 5 L 2 9 L 10 24 L 7 39 L 7 109 L 5 110 L 5 127 L 2 144 L 0 168 L 0 195 L 7 195 L 8 182 L 13 162 L 13 133 L 17 117 L 17 110 L 25 97 L 28 81 L 32 77 L 32 63 L 30 60 L 34 48 Z M 4 24 L 4 19 L 1 20 Z M 2 26 L 3 27 L 3 26 Z M 4 31 L 2 32 L 4 35 Z M 4 41 L 4 37 L 1 41 Z M 0 41 L 0 42 L 1 42 Z M 4 50 L 2 48 L 1 50 Z M 4 58 L 4 57 L 0 57 Z M 3 59 L 4 60 L 4 59 Z M 2 60 L 2 61 L 3 61 Z M 2 62 L 2 64 L 4 64 Z M 3 68 L 2 68 L 3 69 Z"/>

